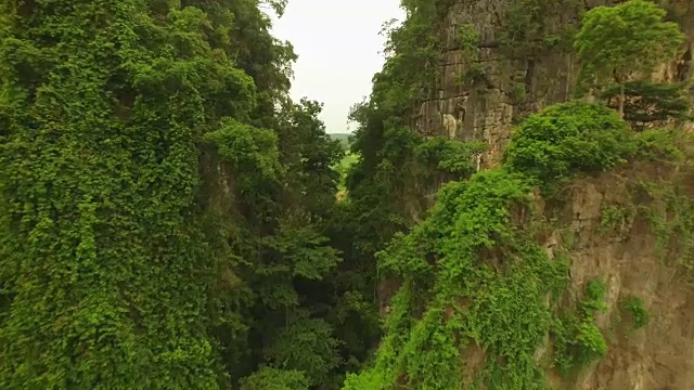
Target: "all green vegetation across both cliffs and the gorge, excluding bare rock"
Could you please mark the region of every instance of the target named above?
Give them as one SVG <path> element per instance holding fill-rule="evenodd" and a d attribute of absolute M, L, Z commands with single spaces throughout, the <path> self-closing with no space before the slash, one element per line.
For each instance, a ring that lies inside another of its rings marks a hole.
<path fill-rule="evenodd" d="M 518 49 L 518 30 L 543 34 L 542 9 L 514 4 L 502 43 Z M 674 148 L 644 129 L 686 118 L 685 86 L 629 79 L 679 53 L 665 11 L 586 12 L 570 38 L 602 101 L 531 115 L 502 166 L 477 171 L 486 143 L 410 126 L 451 1 L 402 1 L 348 151 L 321 103 L 288 95 L 297 56 L 266 13 L 285 5 L 0 1 L 0 388 L 457 389 L 474 340 L 507 360 L 471 386 L 540 389 L 548 329 L 563 372 L 605 353 L 602 282 L 553 312 L 542 297 L 561 296 L 569 259 L 550 261 L 509 213 L 534 188 Z M 632 29 L 663 50 L 604 38 Z M 463 36 L 472 58 L 478 37 Z M 503 272 L 479 259 L 501 246 Z M 384 281 L 398 282 L 388 311 Z M 643 304 L 628 308 L 645 326 Z"/>

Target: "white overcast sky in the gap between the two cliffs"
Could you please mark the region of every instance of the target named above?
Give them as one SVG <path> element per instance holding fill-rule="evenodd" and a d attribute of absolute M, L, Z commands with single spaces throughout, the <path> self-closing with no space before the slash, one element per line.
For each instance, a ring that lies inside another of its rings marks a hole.
<path fill-rule="evenodd" d="M 273 34 L 298 54 L 292 98 L 323 102 L 327 132 L 348 132 L 349 107 L 371 92 L 383 66 L 384 22 L 402 20 L 400 0 L 288 0 Z"/>

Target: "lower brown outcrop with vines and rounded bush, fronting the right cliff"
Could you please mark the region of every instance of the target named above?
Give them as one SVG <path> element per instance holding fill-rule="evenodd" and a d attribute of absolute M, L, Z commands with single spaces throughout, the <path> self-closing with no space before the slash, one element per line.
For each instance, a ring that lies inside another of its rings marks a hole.
<path fill-rule="evenodd" d="M 346 389 L 689 388 L 693 141 L 579 102 L 531 116 L 380 252 L 398 288 Z"/>

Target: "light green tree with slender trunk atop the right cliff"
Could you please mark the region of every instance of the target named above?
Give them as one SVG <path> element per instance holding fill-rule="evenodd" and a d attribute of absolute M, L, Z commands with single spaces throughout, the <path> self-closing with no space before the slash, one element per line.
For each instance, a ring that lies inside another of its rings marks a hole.
<path fill-rule="evenodd" d="M 645 0 L 615 6 L 597 6 L 583 15 L 575 47 L 581 62 L 581 79 L 593 84 L 615 82 L 620 88 L 619 115 L 625 115 L 625 84 L 634 73 L 650 76 L 671 60 L 684 35 L 667 12 Z"/>

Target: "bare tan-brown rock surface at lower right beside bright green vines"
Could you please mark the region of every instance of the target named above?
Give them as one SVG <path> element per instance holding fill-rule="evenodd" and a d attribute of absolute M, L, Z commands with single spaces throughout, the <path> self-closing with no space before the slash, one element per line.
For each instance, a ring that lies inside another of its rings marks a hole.
<path fill-rule="evenodd" d="M 634 196 L 633 183 L 658 179 L 676 183 L 673 170 L 634 167 L 633 176 L 605 173 L 573 185 L 565 204 L 548 206 L 545 212 L 571 221 L 571 286 L 579 294 L 587 281 L 606 283 L 606 310 L 597 316 L 607 354 L 579 378 L 554 378 L 553 388 L 593 389 L 693 389 L 694 289 L 691 274 L 672 252 L 661 252 L 651 223 L 639 212 L 625 213 L 605 224 L 606 210 L 628 209 L 629 202 L 652 207 L 646 197 Z M 690 177 L 686 179 L 691 180 Z M 694 196 L 694 187 L 679 192 Z M 554 208 L 554 211 L 550 209 Z M 569 233 L 566 235 L 566 233 Z M 672 242 L 671 242 L 672 243 Z M 624 323 L 624 302 L 638 297 L 650 313 L 647 326 L 634 329 Z"/>

